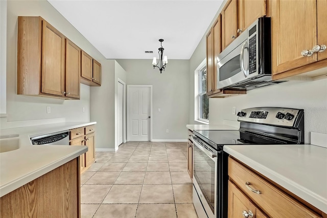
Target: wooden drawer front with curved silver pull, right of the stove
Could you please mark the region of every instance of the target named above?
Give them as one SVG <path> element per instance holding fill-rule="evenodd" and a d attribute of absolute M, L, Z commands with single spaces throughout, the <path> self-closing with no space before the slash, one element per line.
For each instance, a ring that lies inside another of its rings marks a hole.
<path fill-rule="evenodd" d="M 321 217 L 231 158 L 228 159 L 228 175 L 270 217 Z M 261 193 L 251 191 L 246 183 Z"/>

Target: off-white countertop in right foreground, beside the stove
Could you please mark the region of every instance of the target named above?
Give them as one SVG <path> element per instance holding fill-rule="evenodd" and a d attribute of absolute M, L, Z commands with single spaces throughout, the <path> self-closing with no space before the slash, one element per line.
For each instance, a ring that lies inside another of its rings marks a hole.
<path fill-rule="evenodd" d="M 327 213 L 327 148 L 225 145 L 224 151 Z"/>

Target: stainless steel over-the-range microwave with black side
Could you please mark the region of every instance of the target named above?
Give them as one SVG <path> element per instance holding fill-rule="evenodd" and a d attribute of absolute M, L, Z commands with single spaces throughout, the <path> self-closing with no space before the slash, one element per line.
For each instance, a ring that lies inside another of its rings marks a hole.
<path fill-rule="evenodd" d="M 260 17 L 222 51 L 217 89 L 251 90 L 271 81 L 271 21 Z M 272 81 L 279 83 L 282 81 Z"/>

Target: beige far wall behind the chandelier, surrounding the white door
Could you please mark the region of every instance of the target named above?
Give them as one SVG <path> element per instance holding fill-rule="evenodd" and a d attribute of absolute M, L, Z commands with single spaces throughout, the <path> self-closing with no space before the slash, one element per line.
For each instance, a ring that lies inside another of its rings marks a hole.
<path fill-rule="evenodd" d="M 189 60 L 168 60 L 166 71 L 150 59 L 117 59 L 127 72 L 127 85 L 153 85 L 152 139 L 186 140 L 189 122 Z M 158 112 L 158 108 L 161 112 Z M 166 133 L 169 129 L 169 133 Z"/>

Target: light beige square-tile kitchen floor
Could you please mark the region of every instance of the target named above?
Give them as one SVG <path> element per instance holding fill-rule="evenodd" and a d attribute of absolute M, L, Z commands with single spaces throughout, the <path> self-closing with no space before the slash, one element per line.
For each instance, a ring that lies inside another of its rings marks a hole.
<path fill-rule="evenodd" d="M 81 175 L 81 216 L 198 217 L 183 142 L 128 142 L 117 152 L 96 152 Z"/>

